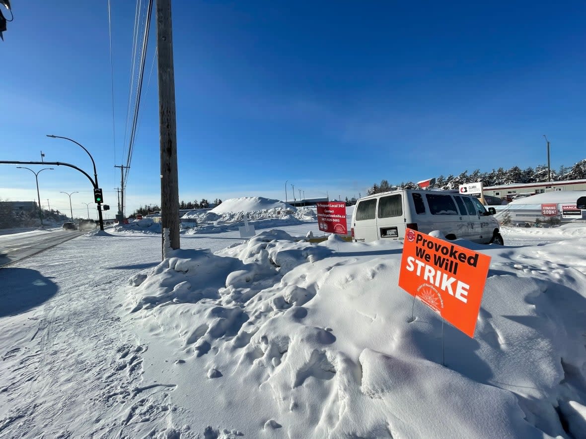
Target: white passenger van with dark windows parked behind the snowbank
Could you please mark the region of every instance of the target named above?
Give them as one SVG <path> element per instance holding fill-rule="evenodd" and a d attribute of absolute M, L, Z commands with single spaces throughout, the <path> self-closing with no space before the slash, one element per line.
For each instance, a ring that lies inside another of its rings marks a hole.
<path fill-rule="evenodd" d="M 439 230 L 447 239 L 503 245 L 499 222 L 478 198 L 449 191 L 403 189 L 357 201 L 352 215 L 354 242 L 404 239 L 407 228 L 423 233 Z"/>

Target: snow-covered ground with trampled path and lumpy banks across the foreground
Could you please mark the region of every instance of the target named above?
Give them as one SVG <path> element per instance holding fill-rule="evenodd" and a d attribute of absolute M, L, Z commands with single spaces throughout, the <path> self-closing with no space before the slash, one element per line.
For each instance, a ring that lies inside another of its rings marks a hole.
<path fill-rule="evenodd" d="M 321 232 L 289 215 L 161 262 L 151 227 L 0 269 L 1 437 L 586 437 L 583 225 L 459 240 L 492 260 L 443 352 L 399 243 L 298 241 Z"/>

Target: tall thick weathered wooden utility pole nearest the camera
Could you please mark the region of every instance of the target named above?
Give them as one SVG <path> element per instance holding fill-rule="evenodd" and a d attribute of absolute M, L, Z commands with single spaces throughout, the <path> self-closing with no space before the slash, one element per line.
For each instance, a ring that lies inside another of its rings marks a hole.
<path fill-rule="evenodd" d="M 179 248 L 179 178 L 177 172 L 177 133 L 175 121 L 175 73 L 171 0 L 156 0 L 156 47 L 159 70 L 159 142 L 161 146 L 161 238 L 165 258 L 165 233 L 169 243 Z"/>

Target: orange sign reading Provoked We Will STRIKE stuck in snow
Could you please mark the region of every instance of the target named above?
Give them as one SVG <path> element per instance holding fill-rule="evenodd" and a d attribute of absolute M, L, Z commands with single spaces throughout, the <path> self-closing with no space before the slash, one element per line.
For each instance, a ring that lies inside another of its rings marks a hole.
<path fill-rule="evenodd" d="M 490 256 L 407 229 L 399 286 L 474 338 Z"/>

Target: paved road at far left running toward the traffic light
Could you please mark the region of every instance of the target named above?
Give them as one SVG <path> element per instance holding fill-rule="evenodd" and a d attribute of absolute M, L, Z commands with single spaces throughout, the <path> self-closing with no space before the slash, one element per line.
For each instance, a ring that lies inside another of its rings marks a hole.
<path fill-rule="evenodd" d="M 0 267 L 52 248 L 85 231 L 54 229 L 0 236 Z"/>

